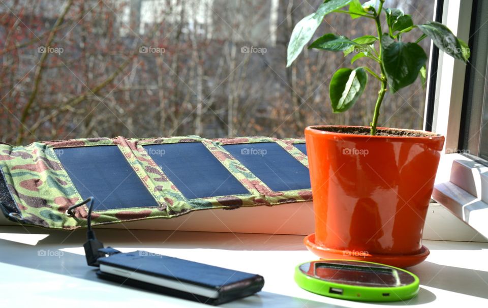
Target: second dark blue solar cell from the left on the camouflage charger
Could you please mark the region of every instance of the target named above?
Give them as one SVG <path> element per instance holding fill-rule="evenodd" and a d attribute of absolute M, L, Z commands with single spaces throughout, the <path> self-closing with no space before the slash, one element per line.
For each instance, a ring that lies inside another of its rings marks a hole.
<path fill-rule="evenodd" d="M 144 145 L 187 199 L 250 194 L 201 142 Z"/>

